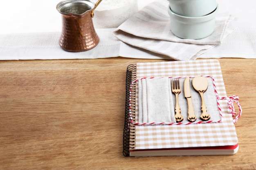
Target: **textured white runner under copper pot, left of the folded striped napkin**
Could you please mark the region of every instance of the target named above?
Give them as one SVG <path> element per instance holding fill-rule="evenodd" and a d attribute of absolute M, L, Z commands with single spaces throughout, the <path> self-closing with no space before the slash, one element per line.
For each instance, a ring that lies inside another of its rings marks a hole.
<path fill-rule="evenodd" d="M 167 56 L 152 53 L 124 44 L 112 34 L 114 29 L 97 29 L 99 44 L 89 51 L 72 53 L 58 45 L 60 32 L 0 34 L 0 60 L 57 60 L 94 59 L 107 57 L 131 57 L 167 59 Z"/>

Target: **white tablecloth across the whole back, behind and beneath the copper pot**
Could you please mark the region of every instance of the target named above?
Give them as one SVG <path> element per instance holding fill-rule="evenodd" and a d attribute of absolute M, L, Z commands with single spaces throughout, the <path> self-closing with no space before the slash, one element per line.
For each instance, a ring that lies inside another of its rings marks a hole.
<path fill-rule="evenodd" d="M 139 9 L 154 0 L 138 0 Z M 201 54 L 199 58 L 243 57 L 256 58 L 256 7 L 255 0 L 217 0 L 219 12 L 227 12 L 235 17 L 231 23 L 234 31 L 222 44 Z M 61 31 L 61 14 L 56 10 L 60 0 L 12 0 L 1 2 L 0 10 L 0 60 L 34 59 L 75 59 L 102 57 L 168 58 L 157 53 L 129 46 L 112 36 L 112 29 L 97 29 L 102 40 L 115 51 L 101 53 L 92 50 L 82 53 L 69 53 L 58 46 Z M 166 1 L 167 2 L 167 1 Z M 168 2 L 167 2 L 168 3 Z M 108 33 L 108 34 L 106 34 Z M 106 35 L 105 35 L 106 34 Z M 47 40 L 45 42 L 44 40 Z M 49 41 L 48 41 L 49 40 Z M 104 50 L 108 48 L 105 47 Z"/>

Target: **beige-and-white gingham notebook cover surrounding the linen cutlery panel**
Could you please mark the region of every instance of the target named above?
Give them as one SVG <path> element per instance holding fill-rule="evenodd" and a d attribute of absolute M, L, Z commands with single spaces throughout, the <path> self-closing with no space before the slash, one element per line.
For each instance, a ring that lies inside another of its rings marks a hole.
<path fill-rule="evenodd" d="M 218 60 L 137 63 L 136 74 L 137 79 L 143 77 L 211 75 L 215 79 L 219 96 L 226 96 Z M 135 149 L 236 145 L 238 144 L 238 138 L 227 101 L 221 100 L 220 107 L 223 115 L 220 123 L 135 126 Z M 137 108 L 136 105 L 136 114 L 138 114 Z"/>

